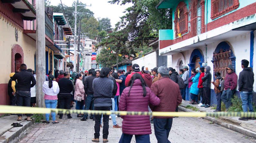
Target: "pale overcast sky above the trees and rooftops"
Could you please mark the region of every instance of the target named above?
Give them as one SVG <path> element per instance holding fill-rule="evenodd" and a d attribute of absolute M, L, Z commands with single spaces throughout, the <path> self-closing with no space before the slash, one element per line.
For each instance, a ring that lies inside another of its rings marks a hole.
<path fill-rule="evenodd" d="M 61 0 L 49 0 L 51 5 L 58 5 L 61 3 Z M 111 20 L 112 28 L 115 28 L 115 24 L 120 21 L 121 16 L 125 15 L 123 13 L 126 8 L 132 6 L 132 4 L 118 5 L 118 4 L 110 4 L 109 0 L 80 0 L 83 4 L 90 5 L 86 8 L 90 9 L 94 13 L 95 18 L 106 18 L 108 17 Z M 67 6 L 72 6 L 74 0 L 62 0 L 62 4 Z"/>

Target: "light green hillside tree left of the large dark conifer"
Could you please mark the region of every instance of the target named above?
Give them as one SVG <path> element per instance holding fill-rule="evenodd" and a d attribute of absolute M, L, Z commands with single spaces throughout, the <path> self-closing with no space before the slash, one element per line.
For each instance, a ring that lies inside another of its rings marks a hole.
<path fill-rule="evenodd" d="M 99 22 L 94 17 L 90 17 L 89 19 L 85 18 L 81 20 L 81 29 L 82 33 L 88 33 L 87 36 L 90 37 L 90 39 L 94 39 L 94 37 L 97 37 L 97 34 L 99 30 L 97 30 L 99 27 Z"/>

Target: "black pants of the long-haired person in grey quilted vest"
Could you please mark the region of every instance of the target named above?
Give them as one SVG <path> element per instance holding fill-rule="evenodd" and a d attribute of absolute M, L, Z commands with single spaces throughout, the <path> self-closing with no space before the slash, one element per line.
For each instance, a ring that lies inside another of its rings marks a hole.
<path fill-rule="evenodd" d="M 94 110 L 110 111 L 110 106 L 108 107 L 94 107 Z M 94 138 L 100 138 L 100 119 L 101 115 L 94 115 L 95 125 L 94 125 Z M 103 115 L 103 139 L 108 139 L 109 135 L 109 115 Z"/>

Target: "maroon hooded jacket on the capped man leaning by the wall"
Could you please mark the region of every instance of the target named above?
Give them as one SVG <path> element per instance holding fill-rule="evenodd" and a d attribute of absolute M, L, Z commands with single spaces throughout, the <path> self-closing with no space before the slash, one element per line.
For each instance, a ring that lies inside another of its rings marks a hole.
<path fill-rule="evenodd" d="M 234 72 L 234 68 L 232 65 L 229 65 L 228 68 L 230 68 L 232 70 L 232 72 L 226 74 L 224 88 L 225 88 L 225 90 L 227 90 L 227 89 L 234 90 L 237 85 L 237 75 Z"/>

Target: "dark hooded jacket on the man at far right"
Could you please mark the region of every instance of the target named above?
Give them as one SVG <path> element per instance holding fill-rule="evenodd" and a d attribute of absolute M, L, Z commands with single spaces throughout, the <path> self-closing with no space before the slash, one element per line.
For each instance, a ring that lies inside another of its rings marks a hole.
<path fill-rule="evenodd" d="M 238 90 L 239 91 L 252 91 L 254 83 L 254 74 L 251 67 L 243 68 L 239 74 Z"/>

